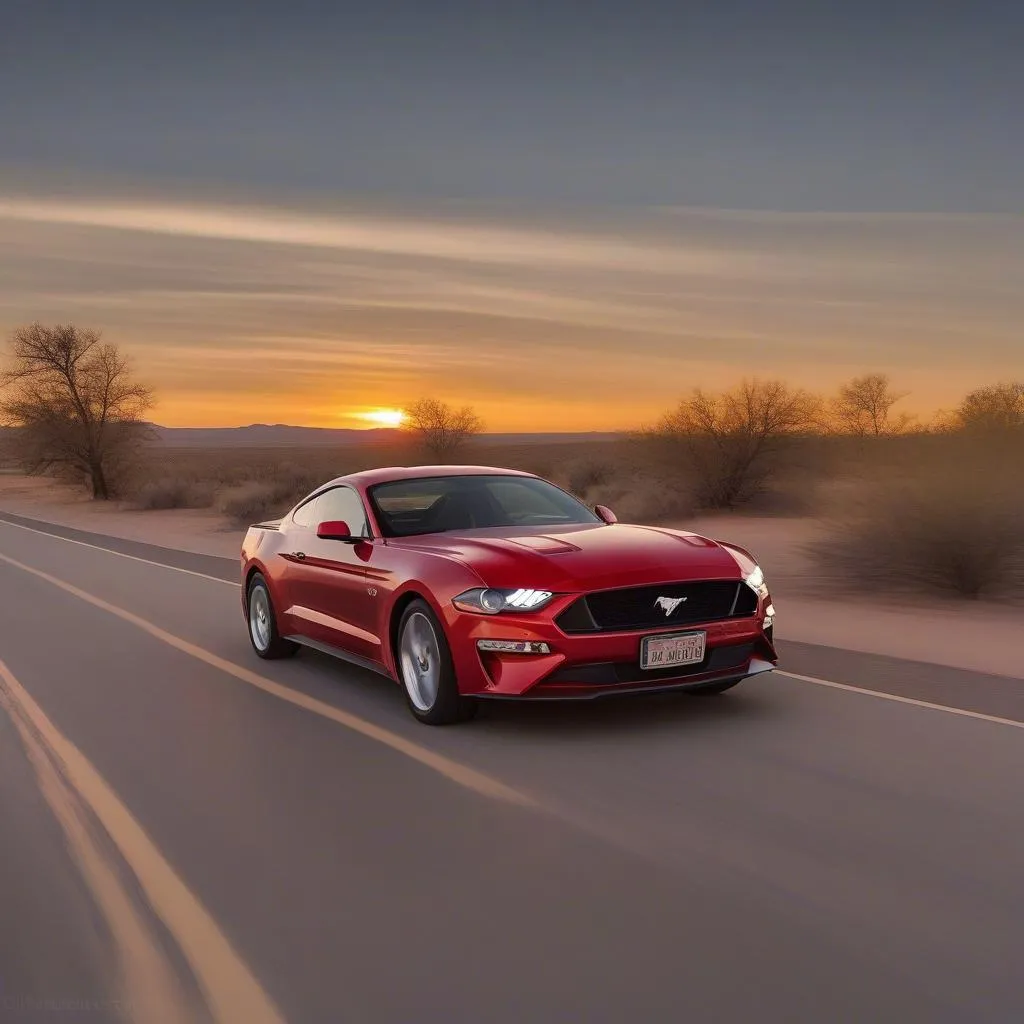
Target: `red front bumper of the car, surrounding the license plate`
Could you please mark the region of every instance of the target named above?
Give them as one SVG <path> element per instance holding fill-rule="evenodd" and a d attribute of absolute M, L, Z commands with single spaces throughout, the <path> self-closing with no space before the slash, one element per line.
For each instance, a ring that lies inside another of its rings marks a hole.
<path fill-rule="evenodd" d="M 565 700 L 696 689 L 768 672 L 778 663 L 778 655 L 771 628 L 766 630 L 764 624 L 762 606 L 750 617 L 692 624 L 677 630 L 569 636 L 548 616 L 466 614 L 449 623 L 449 635 L 462 693 Z M 706 635 L 702 662 L 659 670 L 640 668 L 643 637 L 694 631 Z M 544 643 L 550 652 L 480 651 L 477 641 L 484 639 Z"/>

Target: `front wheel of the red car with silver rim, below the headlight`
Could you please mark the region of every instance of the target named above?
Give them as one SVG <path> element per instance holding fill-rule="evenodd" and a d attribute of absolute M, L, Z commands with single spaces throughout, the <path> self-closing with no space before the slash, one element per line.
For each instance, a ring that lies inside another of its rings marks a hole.
<path fill-rule="evenodd" d="M 476 714 L 476 701 L 459 692 L 444 630 L 426 601 L 417 599 L 402 612 L 397 648 L 398 675 L 414 718 L 450 725 Z"/>

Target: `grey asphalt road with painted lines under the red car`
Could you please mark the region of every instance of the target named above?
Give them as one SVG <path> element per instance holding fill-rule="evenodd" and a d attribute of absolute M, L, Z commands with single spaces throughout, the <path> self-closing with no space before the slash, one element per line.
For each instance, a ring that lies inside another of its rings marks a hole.
<path fill-rule="evenodd" d="M 259 662 L 229 560 L 3 519 L 4 1024 L 1024 1019 L 1024 681 L 787 643 L 429 729 Z"/>

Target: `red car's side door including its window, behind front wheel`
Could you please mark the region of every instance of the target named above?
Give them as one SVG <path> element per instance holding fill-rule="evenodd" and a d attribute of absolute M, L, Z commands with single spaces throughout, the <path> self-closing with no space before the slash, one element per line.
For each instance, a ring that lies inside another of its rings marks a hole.
<path fill-rule="evenodd" d="M 380 638 L 375 632 L 374 608 L 367 588 L 367 558 L 372 545 L 362 499 L 345 485 L 330 487 L 315 499 L 309 525 L 294 553 L 292 615 L 303 623 L 312 639 L 356 657 L 380 660 Z M 344 522 L 351 541 L 316 536 L 323 522 Z"/>

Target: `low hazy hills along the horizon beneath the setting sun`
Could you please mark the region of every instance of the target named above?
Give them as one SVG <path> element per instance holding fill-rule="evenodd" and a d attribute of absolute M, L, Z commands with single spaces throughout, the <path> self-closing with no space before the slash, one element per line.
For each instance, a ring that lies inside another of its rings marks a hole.
<path fill-rule="evenodd" d="M 388 444 L 401 433 L 390 427 L 354 430 L 332 427 L 293 427 L 286 423 L 252 423 L 247 427 L 162 427 L 153 424 L 157 437 L 168 447 L 275 447 Z M 613 440 L 617 433 L 481 434 L 481 444 L 544 444 L 552 441 Z"/>

